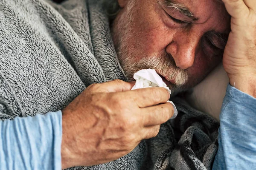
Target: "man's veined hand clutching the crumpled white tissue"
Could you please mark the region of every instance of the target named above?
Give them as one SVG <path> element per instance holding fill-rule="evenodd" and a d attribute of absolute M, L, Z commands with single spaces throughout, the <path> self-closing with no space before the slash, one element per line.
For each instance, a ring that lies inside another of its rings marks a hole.
<path fill-rule="evenodd" d="M 62 111 L 62 168 L 116 160 L 157 135 L 174 113 L 170 95 L 164 88 L 130 91 L 133 86 L 121 80 L 90 85 Z"/>

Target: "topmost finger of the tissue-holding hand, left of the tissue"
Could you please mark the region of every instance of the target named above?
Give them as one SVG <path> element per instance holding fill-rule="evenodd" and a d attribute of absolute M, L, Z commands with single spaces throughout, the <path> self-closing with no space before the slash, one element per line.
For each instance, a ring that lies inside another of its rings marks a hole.
<path fill-rule="evenodd" d="M 115 79 L 113 81 L 104 82 L 98 85 L 100 85 L 98 87 L 100 92 L 112 93 L 130 91 L 131 88 L 135 85 L 135 82 L 125 82 L 120 79 Z"/>

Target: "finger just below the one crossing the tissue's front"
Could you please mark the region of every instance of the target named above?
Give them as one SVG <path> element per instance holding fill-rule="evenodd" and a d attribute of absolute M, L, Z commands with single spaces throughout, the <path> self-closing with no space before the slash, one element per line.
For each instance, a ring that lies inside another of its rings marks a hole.
<path fill-rule="evenodd" d="M 141 121 L 144 126 L 161 125 L 174 114 L 173 105 L 169 102 L 141 109 Z"/>

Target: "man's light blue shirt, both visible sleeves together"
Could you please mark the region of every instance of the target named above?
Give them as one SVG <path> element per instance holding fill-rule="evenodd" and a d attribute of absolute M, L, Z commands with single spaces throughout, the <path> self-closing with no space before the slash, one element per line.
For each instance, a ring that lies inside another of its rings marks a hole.
<path fill-rule="evenodd" d="M 256 168 L 256 99 L 228 85 L 214 170 Z M 0 170 L 61 170 L 61 111 L 0 122 Z"/>

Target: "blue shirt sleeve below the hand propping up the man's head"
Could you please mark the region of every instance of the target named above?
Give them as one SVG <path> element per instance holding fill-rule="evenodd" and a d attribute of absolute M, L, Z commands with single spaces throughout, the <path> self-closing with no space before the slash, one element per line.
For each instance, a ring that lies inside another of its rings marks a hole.
<path fill-rule="evenodd" d="M 213 170 L 256 169 L 256 99 L 228 85 Z"/>

